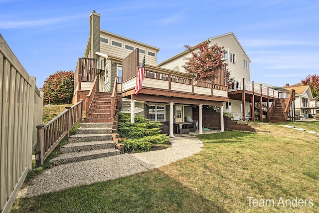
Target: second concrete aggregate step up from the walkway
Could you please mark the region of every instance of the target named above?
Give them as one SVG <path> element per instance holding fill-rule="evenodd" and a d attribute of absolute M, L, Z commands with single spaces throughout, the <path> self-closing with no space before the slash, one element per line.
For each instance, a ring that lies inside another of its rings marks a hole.
<path fill-rule="evenodd" d="M 114 141 L 89 141 L 89 142 L 77 142 L 68 143 L 61 147 L 61 153 L 68 152 L 82 152 L 89 150 L 100 150 L 100 149 L 112 149 L 115 148 L 116 144 Z"/>

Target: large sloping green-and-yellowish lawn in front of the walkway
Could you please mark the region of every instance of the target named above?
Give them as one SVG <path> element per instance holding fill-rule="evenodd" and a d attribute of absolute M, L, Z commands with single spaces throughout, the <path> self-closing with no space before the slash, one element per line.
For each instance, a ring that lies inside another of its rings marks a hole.
<path fill-rule="evenodd" d="M 200 135 L 204 147 L 189 158 L 129 177 L 20 198 L 11 211 L 319 212 L 319 136 L 279 124 L 250 125 L 265 132 Z M 315 122 L 297 125 L 318 129 Z M 249 207 L 247 197 L 275 205 Z M 296 197 L 311 199 L 314 206 L 277 207 L 281 198 Z"/>

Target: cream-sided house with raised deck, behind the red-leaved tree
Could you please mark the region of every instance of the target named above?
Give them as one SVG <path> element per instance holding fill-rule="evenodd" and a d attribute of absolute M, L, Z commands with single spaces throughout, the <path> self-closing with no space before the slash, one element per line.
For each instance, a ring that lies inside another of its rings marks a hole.
<path fill-rule="evenodd" d="M 224 50 L 226 50 L 224 59 L 228 64 L 227 69 L 230 72 L 230 77 L 234 78 L 234 81 L 232 86 L 228 88 L 229 101 L 223 103 L 225 112 L 232 114 L 234 120 L 254 121 L 256 117 L 256 119 L 260 119 L 261 121 L 263 121 L 263 118 L 267 118 L 267 120 L 270 121 L 270 114 L 272 113 L 270 110 L 271 104 L 279 98 L 282 91 L 277 90 L 275 87 L 269 87 L 266 84 L 250 82 L 249 65 L 251 60 L 235 34 L 230 32 L 208 38 L 202 42 L 207 42 L 209 45 L 217 44 L 220 47 L 224 47 Z M 185 72 L 185 69 L 182 67 L 185 63 L 184 58 L 190 56 L 191 53 L 185 50 L 161 62 L 158 66 Z M 283 102 L 283 104 L 285 103 Z M 290 103 L 287 104 L 290 105 Z M 262 108 L 262 113 L 260 113 L 260 108 Z M 257 116 L 256 113 L 259 113 L 259 115 Z M 260 116 L 260 114 L 263 116 Z M 287 112 L 284 114 L 287 114 Z M 279 115 L 274 117 L 276 118 L 272 119 L 273 122 L 286 120 L 285 117 L 279 118 L 281 117 Z"/>

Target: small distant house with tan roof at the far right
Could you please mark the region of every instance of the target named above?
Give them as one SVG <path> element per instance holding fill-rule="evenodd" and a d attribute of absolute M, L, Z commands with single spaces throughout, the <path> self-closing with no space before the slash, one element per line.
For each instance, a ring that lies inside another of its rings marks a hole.
<path fill-rule="evenodd" d="M 296 91 L 295 110 L 297 115 L 316 114 L 319 111 L 319 101 L 313 98 L 313 94 L 308 85 L 293 85 L 286 84 L 283 88 L 294 89 Z M 311 116 L 313 117 L 313 116 Z"/>

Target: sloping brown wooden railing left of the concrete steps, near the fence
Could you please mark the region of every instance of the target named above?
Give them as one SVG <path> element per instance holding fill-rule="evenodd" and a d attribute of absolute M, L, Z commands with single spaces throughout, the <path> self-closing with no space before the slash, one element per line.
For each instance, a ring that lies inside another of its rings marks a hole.
<path fill-rule="evenodd" d="M 65 110 L 53 118 L 47 124 L 37 125 L 37 146 L 35 161 L 37 166 L 42 166 L 43 161 L 50 155 L 55 147 L 62 141 L 68 139 L 70 130 L 82 119 L 82 102 L 71 107 L 65 107 Z"/>

